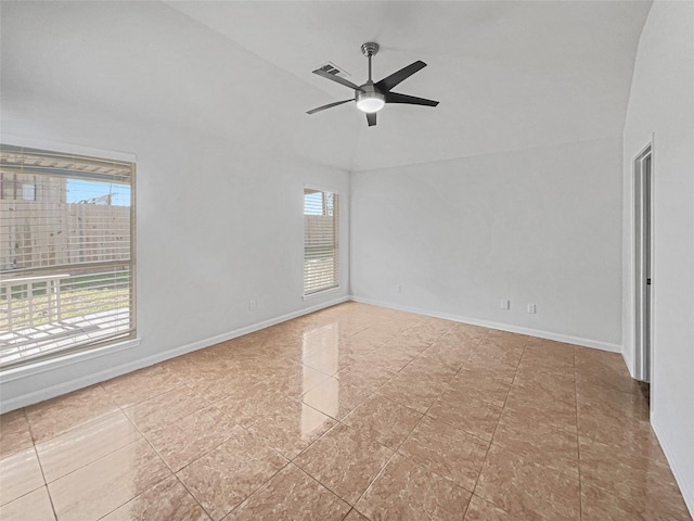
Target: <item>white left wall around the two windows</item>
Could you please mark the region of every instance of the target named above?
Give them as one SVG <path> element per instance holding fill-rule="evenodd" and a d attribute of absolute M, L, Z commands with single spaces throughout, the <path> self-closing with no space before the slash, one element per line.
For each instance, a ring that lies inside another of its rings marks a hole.
<path fill-rule="evenodd" d="M 340 193 L 340 241 L 349 240 L 349 174 L 272 156 L 147 120 L 124 123 L 93 106 L 2 93 L 2 132 L 137 156 L 139 346 L 26 378 L 3 374 L 3 410 L 211 344 L 278 318 L 346 298 L 303 300 L 304 183 Z M 248 309 L 248 301 L 257 309 Z"/>

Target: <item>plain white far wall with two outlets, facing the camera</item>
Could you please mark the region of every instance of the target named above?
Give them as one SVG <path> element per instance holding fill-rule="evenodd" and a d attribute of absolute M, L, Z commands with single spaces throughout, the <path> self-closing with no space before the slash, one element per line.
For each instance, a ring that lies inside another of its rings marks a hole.
<path fill-rule="evenodd" d="M 618 351 L 620 170 L 615 137 L 357 173 L 352 294 Z"/>

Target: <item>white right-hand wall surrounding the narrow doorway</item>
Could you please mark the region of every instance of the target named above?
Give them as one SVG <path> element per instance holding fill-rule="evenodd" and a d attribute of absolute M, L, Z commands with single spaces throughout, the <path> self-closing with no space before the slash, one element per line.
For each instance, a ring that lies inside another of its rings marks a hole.
<path fill-rule="evenodd" d="M 652 422 L 694 512 L 694 3 L 656 1 L 624 135 L 624 338 L 633 371 L 633 171 L 653 138 Z"/>

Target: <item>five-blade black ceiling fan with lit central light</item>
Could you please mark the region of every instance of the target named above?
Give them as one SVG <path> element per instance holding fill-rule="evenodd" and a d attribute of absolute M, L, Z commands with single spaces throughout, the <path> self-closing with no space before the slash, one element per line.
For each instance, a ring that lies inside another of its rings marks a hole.
<path fill-rule="evenodd" d="M 350 98 L 349 100 L 336 101 L 335 103 L 329 103 L 327 105 L 319 106 L 318 109 L 308 111 L 307 114 L 316 114 L 317 112 L 324 111 L 325 109 L 331 109 L 333 106 L 342 105 L 343 103 L 356 101 L 357 109 L 367 113 L 367 122 L 369 123 L 370 127 L 373 127 L 376 124 L 376 112 L 383 109 L 386 103 L 404 103 L 409 105 L 425 106 L 438 105 L 438 101 L 425 100 L 424 98 L 415 98 L 414 96 L 400 94 L 390 90 L 403 79 L 409 78 L 417 71 L 426 67 L 426 63 L 417 60 L 407 67 L 401 68 L 397 73 L 393 73 L 390 76 L 387 76 L 381 81 L 376 81 L 374 84 L 371 79 L 371 58 L 378 52 L 378 43 L 369 41 L 361 46 L 361 52 L 369 59 L 369 80 L 363 85 L 355 85 L 348 79 L 345 79 L 342 76 L 336 76 L 335 74 L 331 74 L 323 68 L 313 71 L 313 74 L 318 74 L 319 76 L 354 89 L 355 97 Z"/>

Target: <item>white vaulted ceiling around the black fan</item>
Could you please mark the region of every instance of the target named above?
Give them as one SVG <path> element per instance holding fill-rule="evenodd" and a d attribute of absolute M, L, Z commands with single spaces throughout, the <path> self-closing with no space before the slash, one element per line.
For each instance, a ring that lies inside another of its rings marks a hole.
<path fill-rule="evenodd" d="M 363 170 L 621 135 L 650 1 L 1 2 L 2 90 Z M 386 105 L 311 71 L 374 79 L 423 60 Z"/>

